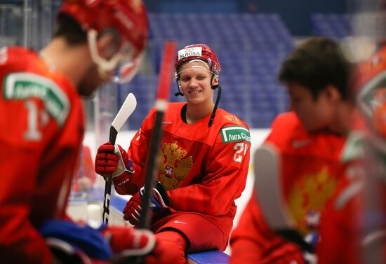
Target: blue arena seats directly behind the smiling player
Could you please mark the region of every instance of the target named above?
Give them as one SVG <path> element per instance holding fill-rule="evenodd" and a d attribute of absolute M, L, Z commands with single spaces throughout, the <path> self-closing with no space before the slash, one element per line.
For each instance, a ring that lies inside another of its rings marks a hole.
<path fill-rule="evenodd" d="M 206 43 L 215 50 L 222 65 L 220 107 L 250 127 L 269 127 L 274 116 L 286 110 L 288 98 L 277 82 L 277 71 L 292 50 L 293 40 L 279 15 L 150 13 L 149 22 L 151 41 L 144 69 L 120 89 L 119 99 L 128 92 L 138 98 L 129 129 L 138 129 L 154 104 L 162 45 L 168 39 L 177 41 L 178 48 Z M 171 101 L 184 100 L 174 97 L 175 83 L 171 89 Z"/>

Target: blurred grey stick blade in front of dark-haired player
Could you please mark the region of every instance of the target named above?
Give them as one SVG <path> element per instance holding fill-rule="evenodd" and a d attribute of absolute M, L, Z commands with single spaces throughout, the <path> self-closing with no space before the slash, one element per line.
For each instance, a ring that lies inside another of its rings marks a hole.
<path fill-rule="evenodd" d="M 284 202 L 280 177 L 281 162 L 277 148 L 272 144 L 263 144 L 255 152 L 253 165 L 255 193 L 269 227 L 284 239 L 312 253 L 313 247 L 295 230 L 295 220 Z"/>

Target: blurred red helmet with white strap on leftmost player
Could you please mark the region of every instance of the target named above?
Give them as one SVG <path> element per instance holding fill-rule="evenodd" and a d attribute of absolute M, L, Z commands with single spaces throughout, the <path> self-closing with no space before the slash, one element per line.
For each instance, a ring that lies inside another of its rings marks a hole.
<path fill-rule="evenodd" d="M 135 74 L 147 46 L 149 23 L 141 0 L 65 0 L 58 15 L 67 14 L 88 36 L 91 56 L 100 69 L 117 69 L 114 81 L 125 82 Z M 98 54 L 98 34 L 116 30 L 119 51 L 105 60 Z"/>

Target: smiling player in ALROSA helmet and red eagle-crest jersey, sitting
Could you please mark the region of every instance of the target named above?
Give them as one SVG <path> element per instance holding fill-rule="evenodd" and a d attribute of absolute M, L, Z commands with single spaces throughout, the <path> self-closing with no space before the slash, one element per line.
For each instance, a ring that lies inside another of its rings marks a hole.
<path fill-rule="evenodd" d="M 248 174 L 251 139 L 243 121 L 217 109 L 219 97 L 213 103 L 220 70 L 215 53 L 204 44 L 182 48 L 175 59 L 176 95 L 184 95 L 187 102 L 169 103 L 162 127 L 159 183 L 152 195 L 157 263 L 186 263 L 187 251 L 225 250 L 228 243 L 234 200 Z M 127 153 L 116 146 L 119 151 L 113 155 L 114 146 L 107 143 L 98 148 L 95 160 L 98 174 L 113 173 L 118 193 L 133 195 L 124 209 L 124 218 L 133 225 L 140 218 L 154 116 L 153 109 Z"/>

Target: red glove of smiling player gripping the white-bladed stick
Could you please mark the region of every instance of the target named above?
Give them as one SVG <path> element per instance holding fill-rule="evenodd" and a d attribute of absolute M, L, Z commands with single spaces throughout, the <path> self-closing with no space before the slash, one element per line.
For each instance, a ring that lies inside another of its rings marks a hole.
<path fill-rule="evenodd" d="M 127 152 L 119 145 L 112 146 L 110 142 L 98 148 L 95 157 L 95 172 L 102 176 L 119 176 L 124 172 L 133 173 L 133 162 Z"/>

